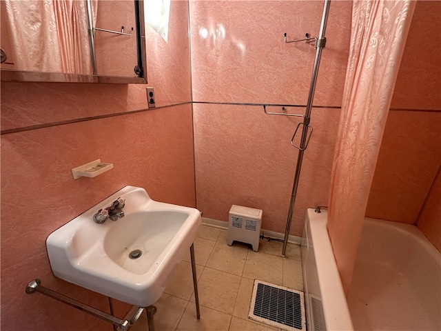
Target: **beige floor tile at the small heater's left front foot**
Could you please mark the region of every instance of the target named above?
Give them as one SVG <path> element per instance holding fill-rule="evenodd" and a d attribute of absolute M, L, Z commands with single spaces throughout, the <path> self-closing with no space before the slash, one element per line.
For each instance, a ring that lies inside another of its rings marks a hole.
<path fill-rule="evenodd" d="M 207 261 L 207 267 L 242 276 L 248 249 L 217 242 Z"/>

